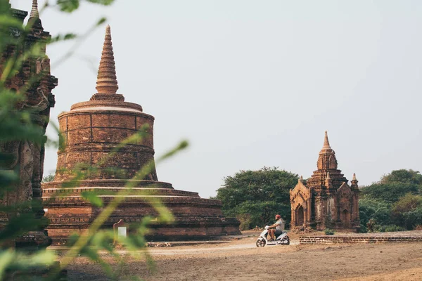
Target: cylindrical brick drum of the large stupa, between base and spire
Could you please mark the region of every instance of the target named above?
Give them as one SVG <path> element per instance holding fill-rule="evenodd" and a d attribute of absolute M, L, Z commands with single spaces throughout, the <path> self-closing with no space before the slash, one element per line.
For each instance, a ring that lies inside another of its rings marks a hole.
<path fill-rule="evenodd" d="M 142 166 L 154 161 L 153 122 L 151 115 L 133 111 L 84 109 L 63 113 L 59 124 L 65 148 L 58 151 L 56 181 L 70 180 L 83 164 L 101 170 L 86 178 L 132 178 Z M 146 133 L 142 139 L 121 145 L 143 126 Z M 115 171 L 103 169 L 113 167 Z M 145 179 L 156 181 L 155 170 Z"/>

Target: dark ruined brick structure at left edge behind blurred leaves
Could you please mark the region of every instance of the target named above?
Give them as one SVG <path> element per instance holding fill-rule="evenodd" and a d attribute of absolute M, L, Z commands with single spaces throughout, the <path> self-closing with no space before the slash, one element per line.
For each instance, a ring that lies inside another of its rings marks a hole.
<path fill-rule="evenodd" d="M 23 24 L 27 16 L 26 11 L 11 8 L 8 1 L 1 1 L 1 14 L 9 13 Z M 6 21 L 4 21 L 6 22 Z M 5 86 L 16 94 L 25 95 L 25 99 L 16 105 L 15 110 L 30 113 L 31 121 L 39 126 L 40 142 L 30 140 L 15 140 L 0 143 L 0 151 L 11 158 L 8 162 L 1 163 L 1 169 L 15 171 L 19 174 L 19 181 L 11 186 L 11 190 L 6 192 L 0 204 L 15 206 L 27 201 L 41 202 L 41 179 L 44 166 L 44 143 L 46 142 L 46 126 L 49 123 L 50 108 L 54 106 L 54 96 L 51 91 L 57 85 L 56 77 L 50 74 L 50 60 L 46 55 L 46 43 L 50 39 L 49 32 L 44 28 L 39 19 L 37 0 L 32 1 L 32 11 L 27 22 L 27 32 L 15 27 L 1 25 L 2 32 L 10 33 L 10 45 L 0 57 L 0 74 L 4 74 L 4 67 L 9 58 L 16 55 L 20 58 L 26 54 L 27 58 L 18 65 L 18 71 L 7 79 Z M 37 55 L 28 55 L 35 44 L 39 44 L 40 51 Z M 19 60 L 18 60 L 19 61 Z M 35 205 L 35 204 L 34 204 Z M 20 216 L 31 211 L 30 208 L 20 209 L 13 213 L 0 214 L 0 228 L 4 228 L 13 216 Z M 32 211 L 42 218 L 44 211 L 39 207 L 32 207 Z M 25 233 L 14 241 L 15 247 L 25 249 L 35 249 L 46 247 L 51 243 L 49 237 L 44 235 L 44 228 L 34 229 Z"/>

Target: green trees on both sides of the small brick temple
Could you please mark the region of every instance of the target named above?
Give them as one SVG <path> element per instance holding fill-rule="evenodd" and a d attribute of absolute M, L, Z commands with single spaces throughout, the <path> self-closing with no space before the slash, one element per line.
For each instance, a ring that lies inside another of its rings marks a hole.
<path fill-rule="evenodd" d="M 241 221 L 241 230 L 273 223 L 280 214 L 290 223 L 290 188 L 298 174 L 264 167 L 239 171 L 224 178 L 215 199 L 222 200 L 225 216 Z M 412 230 L 422 227 L 422 175 L 396 170 L 361 188 L 359 200 L 361 231 Z"/>

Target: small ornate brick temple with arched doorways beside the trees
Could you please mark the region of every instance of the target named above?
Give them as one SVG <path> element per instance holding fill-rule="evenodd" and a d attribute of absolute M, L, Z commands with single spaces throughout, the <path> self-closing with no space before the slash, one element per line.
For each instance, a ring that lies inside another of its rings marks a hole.
<path fill-rule="evenodd" d="M 293 230 L 325 228 L 359 229 L 359 188 L 353 174 L 351 185 L 338 170 L 335 152 L 325 132 L 324 146 L 319 152 L 317 170 L 306 184 L 302 177 L 290 190 Z"/>

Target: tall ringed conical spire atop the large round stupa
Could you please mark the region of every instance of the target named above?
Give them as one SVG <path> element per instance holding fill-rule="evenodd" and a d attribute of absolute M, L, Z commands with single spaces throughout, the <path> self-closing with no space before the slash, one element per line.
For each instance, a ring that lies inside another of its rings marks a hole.
<path fill-rule="evenodd" d="M 107 25 L 103 53 L 101 53 L 100 66 L 98 67 L 96 90 L 98 93 L 116 93 L 117 89 L 119 89 L 119 86 L 117 86 L 113 44 L 111 43 L 110 25 Z"/>

